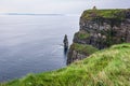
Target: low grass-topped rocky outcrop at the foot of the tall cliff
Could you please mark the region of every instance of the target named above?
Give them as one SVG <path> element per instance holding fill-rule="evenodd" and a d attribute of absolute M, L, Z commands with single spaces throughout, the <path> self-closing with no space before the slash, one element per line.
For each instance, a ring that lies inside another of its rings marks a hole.
<path fill-rule="evenodd" d="M 81 60 L 96 51 L 98 48 L 93 47 L 92 45 L 73 43 L 68 52 L 67 64 L 76 60 Z"/>

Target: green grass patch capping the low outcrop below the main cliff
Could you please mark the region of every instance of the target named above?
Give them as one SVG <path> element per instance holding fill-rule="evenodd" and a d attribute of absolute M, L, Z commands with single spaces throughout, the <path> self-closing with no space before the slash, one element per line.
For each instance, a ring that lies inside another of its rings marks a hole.
<path fill-rule="evenodd" d="M 98 48 L 93 47 L 92 45 L 78 44 L 78 43 L 73 43 L 70 45 L 70 48 L 77 51 L 80 54 L 84 54 L 84 55 L 91 55 L 99 51 Z"/>

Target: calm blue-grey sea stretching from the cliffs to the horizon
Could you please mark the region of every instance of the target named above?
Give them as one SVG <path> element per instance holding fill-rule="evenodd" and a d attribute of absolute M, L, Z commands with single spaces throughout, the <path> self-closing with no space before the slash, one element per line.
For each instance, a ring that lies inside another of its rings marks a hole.
<path fill-rule="evenodd" d="M 78 23 L 79 16 L 1 15 L 0 82 L 65 67 L 63 38 L 70 44 Z"/>

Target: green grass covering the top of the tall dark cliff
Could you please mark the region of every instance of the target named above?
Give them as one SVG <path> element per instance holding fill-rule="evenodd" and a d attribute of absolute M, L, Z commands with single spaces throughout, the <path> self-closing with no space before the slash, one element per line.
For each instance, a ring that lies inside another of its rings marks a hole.
<path fill-rule="evenodd" d="M 126 12 L 127 10 L 123 9 L 113 9 L 113 10 L 87 10 L 83 12 L 82 16 L 87 19 L 95 18 L 96 16 L 103 17 L 103 18 L 118 18 L 120 20 L 126 18 Z"/>

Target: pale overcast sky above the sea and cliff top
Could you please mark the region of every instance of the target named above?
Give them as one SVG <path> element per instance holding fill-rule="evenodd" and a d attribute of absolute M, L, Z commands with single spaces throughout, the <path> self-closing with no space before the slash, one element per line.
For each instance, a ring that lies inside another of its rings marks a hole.
<path fill-rule="evenodd" d="M 0 13 L 79 14 L 98 9 L 130 8 L 130 0 L 0 0 Z"/>

